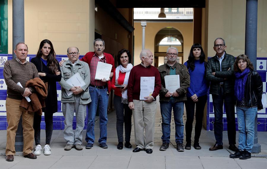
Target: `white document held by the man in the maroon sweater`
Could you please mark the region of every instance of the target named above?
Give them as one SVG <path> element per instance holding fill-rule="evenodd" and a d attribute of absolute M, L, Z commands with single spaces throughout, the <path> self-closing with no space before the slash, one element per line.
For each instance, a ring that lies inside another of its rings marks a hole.
<path fill-rule="evenodd" d="M 147 96 L 150 96 L 154 92 L 155 77 L 141 77 L 140 79 L 140 100 L 147 100 Z"/>

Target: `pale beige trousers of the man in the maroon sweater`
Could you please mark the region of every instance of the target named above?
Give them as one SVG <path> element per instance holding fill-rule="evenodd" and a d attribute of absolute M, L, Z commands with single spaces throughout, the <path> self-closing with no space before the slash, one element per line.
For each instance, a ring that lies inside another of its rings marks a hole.
<path fill-rule="evenodd" d="M 136 147 L 153 149 L 156 110 L 156 101 L 147 103 L 144 100 L 134 100 L 133 117 Z"/>

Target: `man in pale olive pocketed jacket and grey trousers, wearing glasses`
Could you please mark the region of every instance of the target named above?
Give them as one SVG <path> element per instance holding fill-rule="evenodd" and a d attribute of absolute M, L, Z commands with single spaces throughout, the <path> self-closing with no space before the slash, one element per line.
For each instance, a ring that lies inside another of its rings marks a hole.
<path fill-rule="evenodd" d="M 87 63 L 79 60 L 79 49 L 76 47 L 69 47 L 67 50 L 69 60 L 65 61 L 60 67 L 61 70 L 61 103 L 62 113 L 65 117 L 63 136 L 66 140 L 66 147 L 64 150 L 71 150 L 75 147 L 76 150 L 82 150 L 82 130 L 84 128 L 84 120 L 86 117 L 86 106 L 91 102 L 88 86 L 90 84 L 90 70 Z M 71 78 L 75 73 L 79 73 L 85 82 L 84 86 L 71 86 L 66 80 Z M 67 95 L 67 92 L 73 92 Z M 73 116 L 76 116 L 76 130 L 72 130 Z"/>

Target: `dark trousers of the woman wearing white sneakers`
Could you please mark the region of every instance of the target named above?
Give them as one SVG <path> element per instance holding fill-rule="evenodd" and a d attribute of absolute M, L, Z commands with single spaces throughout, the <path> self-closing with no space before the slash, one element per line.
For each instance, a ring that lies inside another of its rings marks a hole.
<path fill-rule="evenodd" d="M 40 143 L 40 132 L 41 132 L 41 119 L 42 116 L 34 113 L 34 140 L 35 145 L 41 144 Z M 50 144 L 51 137 L 53 133 L 53 113 L 46 113 L 45 112 L 45 144 Z"/>

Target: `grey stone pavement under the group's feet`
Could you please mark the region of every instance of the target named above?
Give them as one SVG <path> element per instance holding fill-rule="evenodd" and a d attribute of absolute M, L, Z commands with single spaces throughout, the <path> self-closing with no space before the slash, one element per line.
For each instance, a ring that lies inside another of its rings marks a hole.
<path fill-rule="evenodd" d="M 159 151 L 161 145 L 161 115 L 158 103 L 156 122 L 155 122 L 155 138 L 154 149 L 152 154 L 147 154 L 145 151 L 134 153 L 132 149 L 123 148 L 118 150 L 117 147 L 117 132 L 116 132 L 116 115 L 111 112 L 108 115 L 109 121 L 107 124 L 108 135 L 107 144 L 108 149 L 102 149 L 98 146 L 99 138 L 99 122 L 96 121 L 95 133 L 96 142 L 92 149 L 83 149 L 77 151 L 74 148 L 70 151 L 64 151 L 65 140 L 63 138 L 63 131 L 54 130 L 51 140 L 52 155 L 45 156 L 42 152 L 37 156 L 36 160 L 31 160 L 21 156 L 18 152 L 13 162 L 5 161 L 5 145 L 6 145 L 6 130 L 0 131 L 0 168 L 90 168 L 90 169 L 104 169 L 104 168 L 122 168 L 122 169 L 165 169 L 165 168 L 242 168 L 242 169 L 267 169 L 267 132 L 258 132 L 259 143 L 261 145 L 261 153 L 252 154 L 252 158 L 248 160 L 239 160 L 229 158 L 231 150 L 228 149 L 227 131 L 223 132 L 224 149 L 217 151 L 209 151 L 209 147 L 215 143 L 214 132 L 206 131 L 204 128 L 201 132 L 200 146 L 201 150 L 185 150 L 185 152 L 177 152 L 175 144 L 175 128 L 174 121 L 171 124 L 171 144 L 166 151 Z M 185 119 L 184 119 L 185 124 Z M 85 147 L 86 142 L 85 130 L 83 131 L 82 147 Z M 184 132 L 185 133 L 185 132 Z M 194 138 L 194 128 L 192 132 Z M 41 131 L 42 147 L 45 144 L 45 131 Z M 184 138 L 185 141 L 185 138 Z M 238 134 L 236 134 L 236 141 L 238 141 Z M 185 142 L 184 142 L 185 143 Z M 134 127 L 132 127 L 131 144 L 134 145 Z"/>

